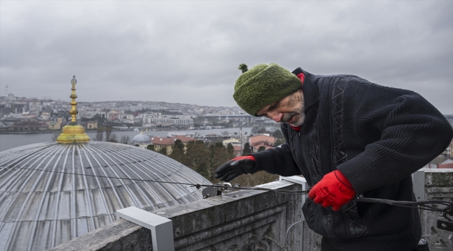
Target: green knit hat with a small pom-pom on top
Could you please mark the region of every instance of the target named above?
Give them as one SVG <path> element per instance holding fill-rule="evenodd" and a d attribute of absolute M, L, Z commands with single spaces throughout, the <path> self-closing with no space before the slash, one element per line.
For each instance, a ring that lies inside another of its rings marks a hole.
<path fill-rule="evenodd" d="M 242 63 L 238 69 L 243 74 L 236 80 L 233 98 L 240 108 L 252 116 L 256 116 L 259 109 L 289 96 L 302 86 L 298 77 L 277 63 L 261 63 L 250 70 Z"/>

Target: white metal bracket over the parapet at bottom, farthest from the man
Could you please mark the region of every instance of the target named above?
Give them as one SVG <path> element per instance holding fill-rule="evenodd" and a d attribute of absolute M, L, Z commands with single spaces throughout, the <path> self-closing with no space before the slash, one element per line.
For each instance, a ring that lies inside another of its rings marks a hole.
<path fill-rule="evenodd" d="M 151 240 L 155 251 L 174 251 L 173 224 L 160 215 L 144 211 L 135 206 L 116 211 L 116 220 L 123 218 L 151 230 Z"/>

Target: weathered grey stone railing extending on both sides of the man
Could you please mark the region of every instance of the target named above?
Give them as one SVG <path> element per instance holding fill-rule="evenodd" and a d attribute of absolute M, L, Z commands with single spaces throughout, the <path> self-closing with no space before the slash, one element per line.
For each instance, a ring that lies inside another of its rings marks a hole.
<path fill-rule="evenodd" d="M 417 200 L 453 201 L 453 169 L 416 172 Z M 272 190 L 305 190 L 305 179 L 287 177 L 260 185 Z M 175 250 L 321 250 L 321 236 L 308 229 L 303 195 L 240 190 L 152 213 L 172 220 Z M 423 238 L 432 250 L 453 250 L 452 232 L 436 227 L 439 213 L 421 211 Z M 286 234 L 287 233 L 287 234 Z M 151 231 L 117 220 L 52 250 L 153 250 Z"/>

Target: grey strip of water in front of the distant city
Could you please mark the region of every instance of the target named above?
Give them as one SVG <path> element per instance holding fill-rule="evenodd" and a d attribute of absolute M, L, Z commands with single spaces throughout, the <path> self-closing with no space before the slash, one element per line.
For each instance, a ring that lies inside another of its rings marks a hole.
<path fill-rule="evenodd" d="M 252 128 L 243 128 L 243 134 L 247 132 L 247 135 L 250 134 Z M 269 129 L 268 129 L 269 130 Z M 275 129 L 274 129 L 275 130 Z M 209 129 L 209 130 L 171 130 L 171 131 L 148 131 L 143 132 L 146 135 L 155 136 L 155 137 L 167 137 L 169 132 L 197 132 L 199 137 L 203 137 L 208 134 L 222 134 L 228 132 L 229 135 L 233 135 L 235 132 L 239 134 L 239 128 L 222 128 L 222 129 Z M 134 131 L 118 131 L 112 132 L 116 135 L 116 139 L 120 139 L 121 136 L 129 136 L 130 139 L 139 134 L 140 132 Z M 96 132 L 88 132 L 91 139 L 95 138 Z M 13 149 L 18 146 L 25 146 L 27 144 L 35 144 L 40 142 L 52 142 L 54 141 L 54 133 L 37 133 L 37 134 L 17 134 L 17 135 L 0 135 L 0 151 L 5 151 L 8 149 Z"/>

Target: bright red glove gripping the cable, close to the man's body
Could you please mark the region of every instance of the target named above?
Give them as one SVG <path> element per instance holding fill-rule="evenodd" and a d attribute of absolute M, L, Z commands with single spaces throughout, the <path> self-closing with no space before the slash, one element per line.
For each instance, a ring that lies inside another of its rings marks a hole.
<path fill-rule="evenodd" d="M 339 211 L 341 206 L 355 197 L 355 191 L 348 179 L 338 170 L 325 174 L 324 177 L 308 193 L 309 199 L 323 207 L 332 206 Z"/>

